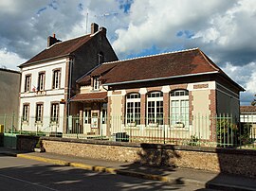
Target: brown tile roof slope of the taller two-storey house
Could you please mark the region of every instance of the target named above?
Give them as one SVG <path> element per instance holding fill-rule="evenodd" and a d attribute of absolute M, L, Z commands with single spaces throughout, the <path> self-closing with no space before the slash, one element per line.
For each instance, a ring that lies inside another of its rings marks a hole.
<path fill-rule="evenodd" d="M 64 41 L 61 43 L 54 43 L 50 47 L 40 52 L 38 55 L 34 56 L 32 59 L 21 64 L 19 67 L 23 67 L 23 66 L 26 66 L 27 64 L 37 62 L 37 61 L 45 61 L 48 59 L 70 55 L 74 51 L 76 51 L 79 47 L 81 47 L 84 43 L 88 42 L 91 38 L 92 37 L 89 34 L 76 39 Z"/>

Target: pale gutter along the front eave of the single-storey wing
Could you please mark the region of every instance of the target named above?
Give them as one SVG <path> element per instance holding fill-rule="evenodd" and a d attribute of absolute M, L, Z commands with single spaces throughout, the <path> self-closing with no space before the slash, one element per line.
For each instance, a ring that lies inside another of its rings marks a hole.
<path fill-rule="evenodd" d="M 147 78 L 147 79 L 139 79 L 139 80 L 131 80 L 131 81 L 121 81 L 121 82 L 115 82 L 115 83 L 105 83 L 103 85 L 104 86 L 111 86 L 111 85 L 119 85 L 119 84 L 126 84 L 126 83 L 139 83 L 139 82 L 154 81 L 154 80 L 161 80 L 161 79 L 170 79 L 170 78 L 195 77 L 195 76 L 216 74 L 216 73 L 219 73 L 219 72 L 218 71 L 213 71 L 213 72 L 204 72 L 204 73 L 190 74 L 190 75 L 179 75 L 179 76 L 174 76 L 174 77 Z"/>

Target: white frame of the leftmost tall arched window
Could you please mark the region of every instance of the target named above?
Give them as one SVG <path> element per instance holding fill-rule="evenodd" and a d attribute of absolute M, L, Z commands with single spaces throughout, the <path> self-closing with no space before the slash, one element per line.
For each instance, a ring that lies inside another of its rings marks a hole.
<path fill-rule="evenodd" d="M 128 96 L 137 96 L 137 98 L 128 97 Z M 131 107 L 131 109 L 132 109 L 131 117 L 128 116 L 129 103 L 133 103 L 133 106 Z M 137 106 L 138 113 L 136 113 L 136 103 L 138 104 L 138 106 Z M 141 104 L 140 104 L 140 95 L 139 94 L 132 93 L 132 94 L 129 94 L 126 96 L 126 117 L 125 118 L 126 118 L 127 126 L 140 125 L 140 116 L 141 116 L 140 107 L 141 107 Z M 136 116 L 137 116 L 137 118 L 136 118 Z M 131 118 L 131 121 L 128 121 L 128 119 L 130 119 L 130 118 Z"/>

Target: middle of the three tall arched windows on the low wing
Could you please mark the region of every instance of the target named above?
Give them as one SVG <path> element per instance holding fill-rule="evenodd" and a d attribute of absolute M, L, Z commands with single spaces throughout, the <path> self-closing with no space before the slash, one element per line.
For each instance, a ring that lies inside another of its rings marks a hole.
<path fill-rule="evenodd" d="M 147 124 L 163 125 L 163 93 L 152 92 L 147 96 Z"/>

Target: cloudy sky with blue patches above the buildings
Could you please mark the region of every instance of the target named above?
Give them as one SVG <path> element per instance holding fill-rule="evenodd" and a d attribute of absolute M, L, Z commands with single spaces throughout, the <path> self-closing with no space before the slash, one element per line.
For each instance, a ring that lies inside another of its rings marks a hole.
<path fill-rule="evenodd" d="M 95 22 L 119 60 L 199 47 L 256 94 L 254 0 L 1 0 L 0 67 L 18 65 L 46 48 L 53 33 L 62 41 L 90 32 Z"/>

